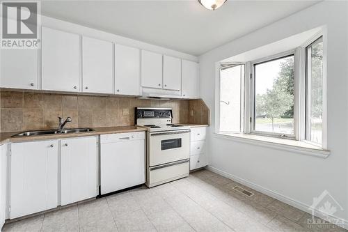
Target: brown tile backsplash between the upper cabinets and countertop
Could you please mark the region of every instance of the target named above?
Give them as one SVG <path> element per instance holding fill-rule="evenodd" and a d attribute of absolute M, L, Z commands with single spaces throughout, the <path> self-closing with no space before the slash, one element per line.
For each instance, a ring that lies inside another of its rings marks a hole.
<path fill-rule="evenodd" d="M 170 107 L 173 123 L 209 124 L 209 109 L 203 100 L 142 100 L 1 90 L 0 102 L 0 132 L 56 128 L 58 116 L 72 118 L 66 127 L 134 125 L 134 107 Z"/>

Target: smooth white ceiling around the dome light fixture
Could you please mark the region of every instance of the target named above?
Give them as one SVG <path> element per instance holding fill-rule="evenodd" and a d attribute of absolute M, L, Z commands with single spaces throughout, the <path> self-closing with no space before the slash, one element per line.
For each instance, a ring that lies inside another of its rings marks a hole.
<path fill-rule="evenodd" d="M 200 55 L 317 1 L 42 1 L 42 15 Z"/>

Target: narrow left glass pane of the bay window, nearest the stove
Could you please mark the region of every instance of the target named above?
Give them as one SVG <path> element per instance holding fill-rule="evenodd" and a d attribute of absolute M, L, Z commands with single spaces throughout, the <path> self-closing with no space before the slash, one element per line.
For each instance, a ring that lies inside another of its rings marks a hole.
<path fill-rule="evenodd" d="M 244 131 L 244 64 L 222 64 L 220 69 L 220 130 Z"/>

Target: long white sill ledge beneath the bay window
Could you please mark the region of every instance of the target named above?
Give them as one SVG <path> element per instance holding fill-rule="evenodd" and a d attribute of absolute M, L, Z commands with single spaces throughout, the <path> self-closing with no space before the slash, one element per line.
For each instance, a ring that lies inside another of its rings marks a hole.
<path fill-rule="evenodd" d="M 291 139 L 279 139 L 274 137 L 266 137 L 255 134 L 237 134 L 237 133 L 214 133 L 214 137 L 219 139 L 229 139 L 239 141 L 245 144 L 253 144 L 268 148 L 276 148 L 303 155 L 312 155 L 326 159 L 330 155 L 330 150 L 324 150 L 319 146 L 306 143 L 304 141 L 296 141 Z"/>

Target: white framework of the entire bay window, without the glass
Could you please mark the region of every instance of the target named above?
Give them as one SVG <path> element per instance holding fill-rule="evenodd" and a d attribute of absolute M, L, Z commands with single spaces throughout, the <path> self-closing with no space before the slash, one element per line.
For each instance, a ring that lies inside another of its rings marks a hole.
<path fill-rule="evenodd" d="M 322 121 L 322 144 L 316 144 L 312 141 L 306 140 L 306 47 L 311 45 L 320 37 L 323 38 L 323 121 Z M 292 137 L 279 137 L 279 134 L 268 132 L 257 132 L 253 130 L 254 125 L 254 92 L 255 92 L 255 82 L 254 82 L 254 66 L 253 64 L 262 63 L 266 61 L 271 61 L 274 59 L 279 59 L 285 56 L 294 54 L 294 136 Z M 313 37 L 311 37 L 306 42 L 303 42 L 299 47 L 287 50 L 286 52 L 281 52 L 271 56 L 265 56 L 262 59 L 255 59 L 249 62 L 231 62 L 236 65 L 244 64 L 244 132 L 228 132 L 225 133 L 220 131 L 220 62 L 215 63 L 215 125 L 214 128 L 216 134 L 222 134 L 223 136 L 232 136 L 233 134 L 251 134 L 251 136 L 264 136 L 273 137 L 280 139 L 288 139 L 299 141 L 301 143 L 310 144 L 310 146 L 316 146 L 318 149 L 327 150 L 327 83 L 326 83 L 326 67 L 327 67 L 327 41 L 326 41 L 326 29 L 321 29 Z M 226 135 L 227 134 L 227 135 Z M 250 138 L 249 138 L 250 139 Z M 256 139 L 256 138 L 255 138 Z M 258 140 L 258 139 L 256 139 Z"/>

